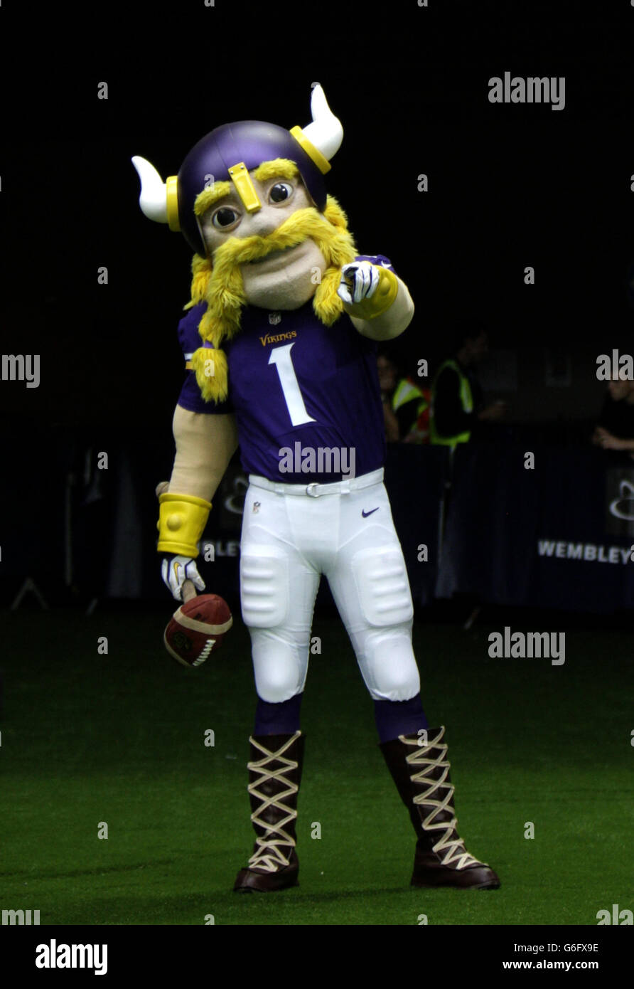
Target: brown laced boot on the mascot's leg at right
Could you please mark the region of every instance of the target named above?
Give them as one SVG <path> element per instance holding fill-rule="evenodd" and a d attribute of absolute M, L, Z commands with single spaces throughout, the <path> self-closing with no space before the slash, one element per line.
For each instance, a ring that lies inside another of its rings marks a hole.
<path fill-rule="evenodd" d="M 411 885 L 498 889 L 496 873 L 456 832 L 444 728 L 426 730 L 425 745 L 418 735 L 399 735 L 379 746 L 418 836 Z"/>

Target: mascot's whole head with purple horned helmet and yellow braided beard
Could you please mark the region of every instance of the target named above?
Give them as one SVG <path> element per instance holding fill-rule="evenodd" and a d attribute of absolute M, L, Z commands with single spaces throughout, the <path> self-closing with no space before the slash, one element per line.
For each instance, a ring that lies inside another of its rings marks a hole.
<path fill-rule="evenodd" d="M 166 182 L 145 158 L 132 158 L 145 216 L 181 230 L 195 251 L 192 299 L 184 309 L 205 304 L 198 323 L 203 346 L 191 366 L 206 402 L 227 398 L 222 347 L 240 332 L 245 305 L 296 310 L 312 300 L 324 326 L 344 312 L 341 269 L 357 248 L 323 182 L 344 130 L 318 83 L 310 108 L 312 121 L 303 129 L 263 121 L 215 128 Z"/>

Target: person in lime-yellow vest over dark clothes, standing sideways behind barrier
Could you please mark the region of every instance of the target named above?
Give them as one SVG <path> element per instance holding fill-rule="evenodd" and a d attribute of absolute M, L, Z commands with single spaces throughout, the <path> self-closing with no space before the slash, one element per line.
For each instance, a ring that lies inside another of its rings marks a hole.
<path fill-rule="evenodd" d="M 440 364 L 432 385 L 430 437 L 432 443 L 468 443 L 481 422 L 499 422 L 507 413 L 504 402 L 485 404 L 475 370 L 489 349 L 486 327 L 476 321 L 459 323 L 453 356 Z"/>

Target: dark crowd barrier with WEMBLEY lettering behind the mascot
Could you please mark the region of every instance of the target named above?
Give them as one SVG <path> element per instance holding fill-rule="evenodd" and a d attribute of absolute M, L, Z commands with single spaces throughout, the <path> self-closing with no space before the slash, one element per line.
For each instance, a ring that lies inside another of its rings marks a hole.
<path fill-rule="evenodd" d="M 42 428 L 28 439 L 14 430 L 3 445 L 10 465 L 0 533 L 5 599 L 27 580 L 44 598 L 59 588 L 95 599 L 166 594 L 154 488 L 169 478 L 171 442 L 105 435 L 88 443 L 72 430 Z M 235 458 L 213 499 L 203 536 L 212 562 L 200 570 L 217 593 L 238 593 L 247 484 Z M 634 463 L 627 455 L 525 442 L 461 444 L 453 452 L 393 444 L 385 485 L 419 606 L 455 593 L 599 613 L 632 606 Z"/>

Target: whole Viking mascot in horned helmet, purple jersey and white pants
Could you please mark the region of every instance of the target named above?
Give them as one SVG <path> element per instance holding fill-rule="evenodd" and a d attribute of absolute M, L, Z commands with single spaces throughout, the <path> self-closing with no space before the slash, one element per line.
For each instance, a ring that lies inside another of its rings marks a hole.
<path fill-rule="evenodd" d="M 377 341 L 414 305 L 383 255 L 357 253 L 324 175 L 343 129 L 319 85 L 312 123 L 261 121 L 202 137 L 163 182 L 132 162 L 146 217 L 195 252 L 179 324 L 186 380 L 176 457 L 160 495 L 162 574 L 182 600 L 211 499 L 240 447 L 249 476 L 240 556 L 242 618 L 257 690 L 249 796 L 256 833 L 240 891 L 297 884 L 300 704 L 321 575 L 374 702 L 380 749 L 416 832 L 412 884 L 495 889 L 457 833 L 444 728 L 430 728 L 412 650 L 413 606 L 383 486 Z"/>

